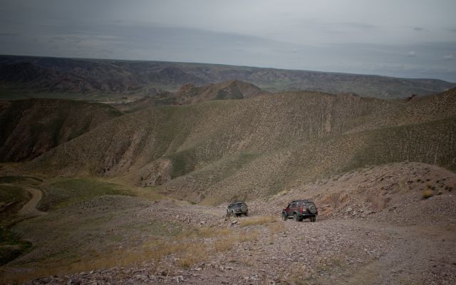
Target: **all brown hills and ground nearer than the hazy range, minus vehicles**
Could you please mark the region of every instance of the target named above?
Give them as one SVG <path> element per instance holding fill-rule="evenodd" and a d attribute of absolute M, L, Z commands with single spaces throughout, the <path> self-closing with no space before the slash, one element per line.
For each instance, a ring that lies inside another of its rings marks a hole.
<path fill-rule="evenodd" d="M 455 284 L 455 92 L 1 103 L 0 283 Z"/>

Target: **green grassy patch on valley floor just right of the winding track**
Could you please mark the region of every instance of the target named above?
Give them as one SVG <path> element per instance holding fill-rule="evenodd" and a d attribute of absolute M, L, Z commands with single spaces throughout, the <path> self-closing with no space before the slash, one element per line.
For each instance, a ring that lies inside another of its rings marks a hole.
<path fill-rule="evenodd" d="M 38 206 L 41 211 L 66 207 L 103 195 L 135 196 L 127 186 L 95 178 L 58 178 L 43 185 L 43 190 L 45 195 Z"/>

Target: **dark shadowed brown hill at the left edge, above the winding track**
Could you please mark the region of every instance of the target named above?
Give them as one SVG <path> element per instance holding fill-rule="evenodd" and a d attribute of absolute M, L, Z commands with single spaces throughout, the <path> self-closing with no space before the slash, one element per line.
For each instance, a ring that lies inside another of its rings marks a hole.
<path fill-rule="evenodd" d="M 28 99 L 0 109 L 0 161 L 31 160 L 122 115 L 100 103 Z"/>

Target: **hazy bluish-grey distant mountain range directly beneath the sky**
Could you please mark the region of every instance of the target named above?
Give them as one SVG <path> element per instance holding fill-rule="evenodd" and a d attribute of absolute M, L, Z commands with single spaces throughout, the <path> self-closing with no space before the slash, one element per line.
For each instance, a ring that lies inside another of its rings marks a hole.
<path fill-rule="evenodd" d="M 201 86 L 234 79 L 271 92 L 313 90 L 377 98 L 427 95 L 456 86 L 455 83 L 432 79 L 205 63 L 0 56 L 1 89 L 14 93 L 28 92 L 31 96 L 36 91 L 155 95 L 162 89 L 177 90 L 186 83 Z"/>

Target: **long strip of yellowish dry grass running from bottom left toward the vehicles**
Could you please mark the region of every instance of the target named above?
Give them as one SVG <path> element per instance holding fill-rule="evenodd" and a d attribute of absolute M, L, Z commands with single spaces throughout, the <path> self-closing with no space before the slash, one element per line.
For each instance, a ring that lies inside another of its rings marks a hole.
<path fill-rule="evenodd" d="M 95 269 L 130 266 L 144 261 L 152 262 L 157 271 L 165 257 L 174 254 L 177 265 L 189 269 L 214 253 L 227 252 L 237 243 L 259 238 L 257 231 L 236 231 L 229 228 L 187 229 L 172 239 L 155 239 L 136 249 L 118 249 L 110 252 L 93 252 L 90 257 L 59 265 L 49 262 L 37 264 L 35 270 L 21 276 L 0 279 L 0 284 L 22 283 L 43 276 L 72 274 Z M 208 242 L 207 239 L 210 241 Z"/>

